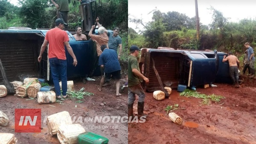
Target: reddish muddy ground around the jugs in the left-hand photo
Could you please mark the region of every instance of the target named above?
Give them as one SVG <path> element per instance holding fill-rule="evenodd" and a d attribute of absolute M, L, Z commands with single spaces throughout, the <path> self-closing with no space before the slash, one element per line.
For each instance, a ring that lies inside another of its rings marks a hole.
<path fill-rule="evenodd" d="M 81 79 L 74 80 L 75 90 L 82 87 L 87 92 L 93 92 L 93 96 L 84 96 L 84 103 L 75 103 L 77 100 L 67 99 L 63 103 L 38 104 L 37 100 L 27 100 L 29 98 L 19 98 L 14 95 L 7 95 L 0 98 L 0 110 L 9 116 L 10 124 L 7 127 L 0 127 L 0 132 L 15 134 L 18 139 L 17 144 L 60 144 L 57 135 L 51 136 L 44 118 L 57 112 L 67 111 L 72 116 L 73 124 L 81 124 L 86 131 L 94 132 L 109 139 L 109 144 L 128 143 L 128 124 L 127 123 L 92 123 L 84 121 L 84 118 L 94 118 L 95 116 L 127 116 L 127 91 L 122 96 L 116 97 L 115 83 L 103 87 L 99 92 L 97 87 L 101 77 L 92 77 L 96 81 L 86 81 Z M 122 75 L 121 84 L 128 81 L 127 75 Z M 104 103 L 104 106 L 100 104 Z M 50 106 L 51 105 L 51 106 Z M 52 107 L 54 106 L 54 107 Z M 42 130 L 41 133 L 15 133 L 15 109 L 35 108 L 41 109 Z M 76 118 L 75 118 L 76 116 Z M 78 120 L 79 116 L 83 119 Z M 75 119 L 74 119 L 75 118 Z"/>

